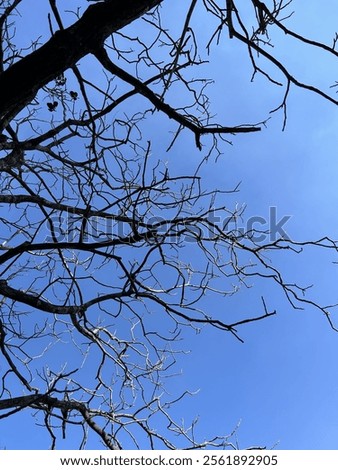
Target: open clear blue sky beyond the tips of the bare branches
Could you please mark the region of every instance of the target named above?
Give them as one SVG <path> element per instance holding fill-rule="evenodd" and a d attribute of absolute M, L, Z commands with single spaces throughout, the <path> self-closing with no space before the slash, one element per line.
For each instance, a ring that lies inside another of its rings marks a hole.
<path fill-rule="evenodd" d="M 178 3 L 175 6 L 180 10 Z M 335 2 L 328 3 L 323 10 L 318 2 L 294 0 L 295 14 L 289 24 L 309 35 L 314 31 L 312 37 L 330 43 L 338 12 Z M 35 11 L 34 21 L 39 21 L 39 14 Z M 172 22 L 176 14 L 173 9 Z M 281 57 L 305 79 L 313 79 L 327 90 L 338 79 L 337 62 L 321 55 L 319 63 L 319 56 L 313 56 L 311 49 L 305 52 L 291 47 L 283 37 L 277 42 Z M 281 88 L 262 77 L 250 82 L 246 57 L 243 47 L 226 40 L 213 49 L 210 63 L 203 69 L 215 80 L 209 92 L 212 109 L 225 125 L 259 122 L 283 97 Z M 262 132 L 233 137 L 233 145 L 224 144 L 218 160 L 211 158 L 201 169 L 203 185 L 231 189 L 241 182 L 240 192 L 229 196 L 229 203 L 245 204 L 245 217 L 267 217 L 269 208 L 276 207 L 279 218 L 291 216 L 286 228 L 292 239 L 325 235 L 337 239 L 337 121 L 332 104 L 292 88 L 286 130 L 282 132 L 283 116 L 278 112 Z M 169 154 L 164 152 L 170 141 L 165 129 L 162 134 L 157 128 L 152 138 L 153 151 L 170 161 L 177 173 L 193 169 L 206 152 L 206 147 L 202 153 L 193 148 L 188 132 Z M 287 279 L 314 283 L 313 296 L 322 303 L 337 300 L 338 267 L 332 261 L 338 261 L 337 254 L 320 248 L 308 250 L 299 258 L 284 254 L 276 257 Z M 176 369 L 182 373 L 169 379 L 167 390 L 173 394 L 185 388 L 199 392 L 178 404 L 173 413 L 187 423 L 199 416 L 196 433 L 201 439 L 231 433 L 240 422 L 236 432 L 240 448 L 276 445 L 277 449 L 337 449 L 338 333 L 330 329 L 323 315 L 311 308 L 293 310 L 279 289 L 262 282 L 241 290 L 223 304 L 211 296 L 203 303 L 211 313 L 222 308 L 225 313 L 247 312 L 250 316 L 261 313 L 262 295 L 268 308 L 276 309 L 278 315 L 243 326 L 239 331 L 243 344 L 210 328 L 200 334 L 184 331 L 180 345 L 191 352 L 179 358 Z M 0 448 L 38 448 L 37 436 L 40 448 L 48 445 L 42 429 L 30 428 L 27 435 L 24 426 L 17 426 L 18 419 L 0 421 Z"/>

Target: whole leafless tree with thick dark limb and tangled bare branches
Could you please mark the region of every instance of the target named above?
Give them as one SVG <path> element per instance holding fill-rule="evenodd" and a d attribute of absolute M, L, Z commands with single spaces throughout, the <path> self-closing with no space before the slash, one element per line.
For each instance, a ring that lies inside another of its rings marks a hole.
<path fill-rule="evenodd" d="M 26 47 L 25 3 L 0 7 L 0 418 L 29 408 L 53 449 L 71 427 L 80 428 L 79 448 L 89 432 L 109 449 L 231 445 L 226 436 L 196 440 L 194 423 L 185 428 L 170 414 L 189 394 L 165 393 L 177 340 L 187 327 L 208 326 L 242 341 L 242 324 L 276 313 L 268 300 L 235 319 L 202 305 L 210 294 L 226 308 L 227 297 L 255 278 L 277 284 L 294 308 L 317 308 L 335 328 L 332 306 L 286 281 L 269 257 L 337 245 L 261 242 L 259 233 L 230 226 L 242 209 L 224 204 L 227 191 L 204 188 L 199 165 L 230 136 L 265 123 L 215 122 L 199 69 L 217 43 L 244 43 L 254 75 L 280 84 L 272 64 L 284 77 L 286 123 L 292 86 L 337 101 L 272 55 L 270 30 L 332 56 L 336 38 L 326 46 L 287 29 L 290 2 L 282 0 L 181 2 L 178 33 L 167 26 L 166 1 L 78 1 L 69 13 L 50 0 L 43 17 L 50 38 L 31 38 Z M 213 28 L 205 50 L 197 15 Z M 149 129 L 163 139 L 166 126 L 172 140 L 156 155 Z M 170 165 L 183 134 L 203 149 L 189 174 Z"/>

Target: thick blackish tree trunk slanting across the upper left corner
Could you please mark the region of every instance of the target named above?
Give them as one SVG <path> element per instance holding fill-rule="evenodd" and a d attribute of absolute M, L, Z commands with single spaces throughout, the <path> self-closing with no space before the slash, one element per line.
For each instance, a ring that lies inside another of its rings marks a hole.
<path fill-rule="evenodd" d="M 107 0 L 91 5 L 76 23 L 57 31 L 42 47 L 2 73 L 2 127 L 32 101 L 42 86 L 95 51 L 114 31 L 141 17 L 162 1 Z"/>

